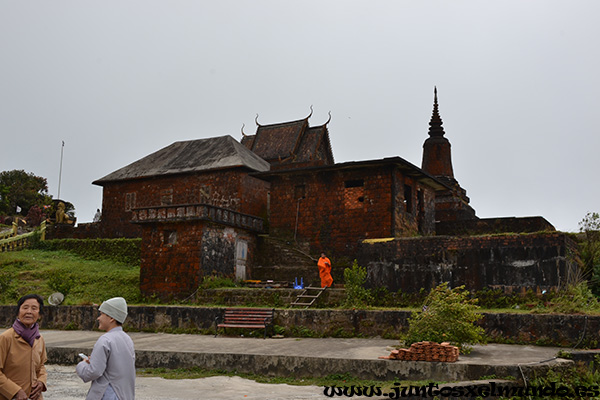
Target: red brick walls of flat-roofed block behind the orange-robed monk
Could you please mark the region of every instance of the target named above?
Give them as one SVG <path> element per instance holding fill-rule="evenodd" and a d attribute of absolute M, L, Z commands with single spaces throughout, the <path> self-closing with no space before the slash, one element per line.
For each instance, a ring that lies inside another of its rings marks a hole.
<path fill-rule="evenodd" d="M 405 210 L 405 184 L 413 187 L 410 213 Z M 393 167 L 277 175 L 271 182 L 271 233 L 296 233 L 309 241 L 312 253 L 323 250 L 340 255 L 352 253 L 361 239 L 416 234 L 419 189 L 425 193 L 423 212 L 430 214 L 420 222 L 429 233 L 433 231 L 433 192 Z M 304 194 L 300 200 L 299 192 Z"/>

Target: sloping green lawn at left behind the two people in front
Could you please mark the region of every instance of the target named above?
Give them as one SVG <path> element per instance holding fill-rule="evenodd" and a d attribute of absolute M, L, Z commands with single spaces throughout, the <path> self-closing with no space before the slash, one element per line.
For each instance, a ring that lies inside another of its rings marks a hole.
<path fill-rule="evenodd" d="M 122 296 L 140 303 L 140 268 L 106 260 L 85 260 L 66 251 L 22 250 L 0 253 L 0 304 L 37 293 L 65 295 L 63 304 L 99 304 Z"/>

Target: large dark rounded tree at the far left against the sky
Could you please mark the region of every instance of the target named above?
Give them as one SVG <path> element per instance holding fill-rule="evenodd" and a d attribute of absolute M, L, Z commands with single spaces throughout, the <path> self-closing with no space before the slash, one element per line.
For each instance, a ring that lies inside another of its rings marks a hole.
<path fill-rule="evenodd" d="M 23 170 L 0 172 L 0 214 L 13 215 L 20 207 L 27 213 L 33 206 L 51 204 L 46 178 Z"/>

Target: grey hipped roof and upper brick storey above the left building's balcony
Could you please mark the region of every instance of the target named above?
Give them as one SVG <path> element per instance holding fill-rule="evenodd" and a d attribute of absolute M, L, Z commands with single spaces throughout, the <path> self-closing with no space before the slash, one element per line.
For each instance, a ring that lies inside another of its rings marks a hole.
<path fill-rule="evenodd" d="M 176 142 L 104 178 L 102 230 L 107 237 L 140 237 L 134 210 L 205 204 L 266 216 L 268 184 L 249 174 L 269 164 L 231 136 Z"/>

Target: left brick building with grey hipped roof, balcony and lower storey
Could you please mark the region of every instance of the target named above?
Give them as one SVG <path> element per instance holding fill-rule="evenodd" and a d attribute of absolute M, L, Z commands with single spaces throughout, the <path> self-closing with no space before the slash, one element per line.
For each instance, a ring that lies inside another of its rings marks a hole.
<path fill-rule="evenodd" d="M 140 289 L 193 293 L 207 275 L 246 279 L 263 232 L 269 164 L 231 136 L 176 142 L 94 183 L 102 231 L 142 237 Z"/>

